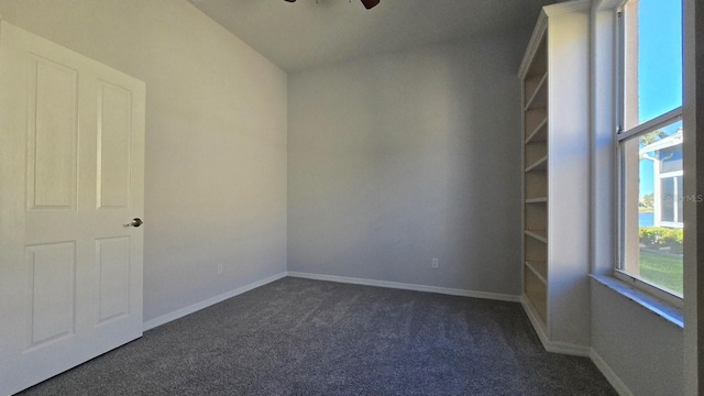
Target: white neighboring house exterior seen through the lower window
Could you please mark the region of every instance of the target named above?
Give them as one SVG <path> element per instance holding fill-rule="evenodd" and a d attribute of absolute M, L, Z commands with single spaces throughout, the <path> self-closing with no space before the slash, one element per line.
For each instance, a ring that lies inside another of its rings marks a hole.
<path fill-rule="evenodd" d="M 640 158 L 653 162 L 653 226 L 682 228 L 682 129 L 640 148 Z"/>

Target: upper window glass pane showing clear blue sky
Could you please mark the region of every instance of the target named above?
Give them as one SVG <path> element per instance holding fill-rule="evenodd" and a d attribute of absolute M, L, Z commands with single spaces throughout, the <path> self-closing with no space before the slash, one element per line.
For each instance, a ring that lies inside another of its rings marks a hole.
<path fill-rule="evenodd" d="M 624 8 L 625 128 L 682 106 L 682 1 L 630 0 Z"/>

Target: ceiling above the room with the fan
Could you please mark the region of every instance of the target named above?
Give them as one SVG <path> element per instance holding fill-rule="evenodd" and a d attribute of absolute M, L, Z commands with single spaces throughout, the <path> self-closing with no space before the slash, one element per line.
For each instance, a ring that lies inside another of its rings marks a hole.
<path fill-rule="evenodd" d="M 285 72 L 458 41 L 510 29 L 530 32 L 557 0 L 190 0 Z M 527 42 L 526 37 L 526 42 Z"/>

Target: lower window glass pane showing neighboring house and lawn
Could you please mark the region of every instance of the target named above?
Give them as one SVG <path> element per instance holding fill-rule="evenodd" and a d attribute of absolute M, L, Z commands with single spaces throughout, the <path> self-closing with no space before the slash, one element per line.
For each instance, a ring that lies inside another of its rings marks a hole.
<path fill-rule="evenodd" d="M 623 141 L 620 268 L 682 295 L 682 121 Z"/>

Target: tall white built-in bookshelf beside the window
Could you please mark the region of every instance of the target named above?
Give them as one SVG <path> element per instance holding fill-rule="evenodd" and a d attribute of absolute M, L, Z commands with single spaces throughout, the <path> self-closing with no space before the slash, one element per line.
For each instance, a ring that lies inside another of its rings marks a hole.
<path fill-rule="evenodd" d="M 590 346 L 590 1 L 543 8 L 520 66 L 524 296 L 546 349 Z"/>

